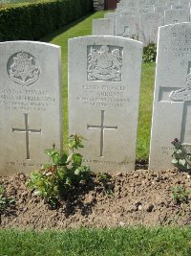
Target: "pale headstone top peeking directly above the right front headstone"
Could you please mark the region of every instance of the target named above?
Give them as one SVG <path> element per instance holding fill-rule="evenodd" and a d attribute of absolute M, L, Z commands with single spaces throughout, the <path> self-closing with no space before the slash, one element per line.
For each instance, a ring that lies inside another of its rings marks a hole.
<path fill-rule="evenodd" d="M 167 10 L 164 12 L 164 25 L 187 22 L 188 14 L 185 10 Z"/>

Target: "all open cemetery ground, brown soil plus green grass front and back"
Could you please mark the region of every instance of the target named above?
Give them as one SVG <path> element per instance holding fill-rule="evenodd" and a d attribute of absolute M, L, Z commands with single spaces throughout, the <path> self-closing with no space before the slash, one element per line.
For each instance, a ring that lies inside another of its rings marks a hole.
<path fill-rule="evenodd" d="M 102 16 L 103 12 L 96 12 L 43 39 L 62 46 L 65 130 L 68 130 L 67 41 L 70 37 L 91 35 L 92 19 Z M 63 255 L 63 252 L 68 255 L 190 255 L 191 195 L 187 194 L 191 192 L 190 175 L 176 169 L 143 170 L 148 162 L 154 78 L 155 63 L 143 63 L 137 171 L 93 175 L 93 180 L 69 190 L 57 209 L 50 209 L 42 198 L 32 196 L 26 186 L 26 175 L 1 177 L 7 197 L 14 198 L 15 203 L 0 212 L 0 244 L 3 244 L 0 255 Z M 66 142 L 68 134 L 65 132 L 64 136 Z M 135 227 L 139 225 L 147 227 Z M 174 227 L 153 227 L 164 225 Z M 79 227 L 98 229 L 30 231 Z M 104 227 L 107 228 L 99 229 Z M 8 228 L 29 231 L 18 233 Z"/>

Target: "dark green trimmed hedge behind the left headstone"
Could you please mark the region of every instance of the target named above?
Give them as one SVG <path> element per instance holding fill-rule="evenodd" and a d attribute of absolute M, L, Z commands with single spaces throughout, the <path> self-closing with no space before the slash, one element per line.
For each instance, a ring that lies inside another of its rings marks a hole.
<path fill-rule="evenodd" d="M 0 8 L 0 41 L 38 40 L 93 11 L 93 0 L 41 0 Z"/>

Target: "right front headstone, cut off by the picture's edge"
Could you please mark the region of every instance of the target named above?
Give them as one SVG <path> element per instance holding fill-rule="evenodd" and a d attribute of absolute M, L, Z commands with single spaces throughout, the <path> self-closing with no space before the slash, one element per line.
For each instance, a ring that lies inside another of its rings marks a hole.
<path fill-rule="evenodd" d="M 150 164 L 172 167 L 171 141 L 191 145 L 191 23 L 159 28 Z"/>

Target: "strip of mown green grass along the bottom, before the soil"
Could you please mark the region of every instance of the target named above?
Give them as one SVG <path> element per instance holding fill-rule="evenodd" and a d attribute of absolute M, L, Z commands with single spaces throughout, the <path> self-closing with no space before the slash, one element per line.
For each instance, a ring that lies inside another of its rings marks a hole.
<path fill-rule="evenodd" d="M 1 256 L 189 256 L 191 227 L 0 230 Z"/>

